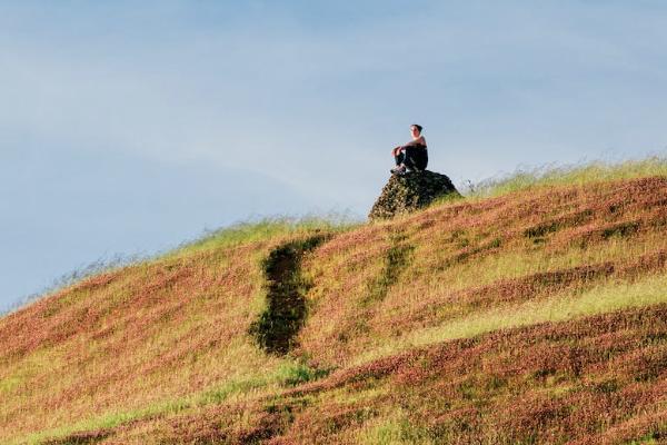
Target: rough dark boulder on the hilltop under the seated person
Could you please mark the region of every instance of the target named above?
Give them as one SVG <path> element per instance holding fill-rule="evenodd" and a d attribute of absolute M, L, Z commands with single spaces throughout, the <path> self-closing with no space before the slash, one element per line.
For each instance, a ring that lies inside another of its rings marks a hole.
<path fill-rule="evenodd" d="M 447 195 L 460 197 L 451 180 L 445 175 L 428 170 L 411 171 L 402 176 L 391 175 L 368 218 L 389 219 L 399 214 L 427 207 L 434 200 Z"/>

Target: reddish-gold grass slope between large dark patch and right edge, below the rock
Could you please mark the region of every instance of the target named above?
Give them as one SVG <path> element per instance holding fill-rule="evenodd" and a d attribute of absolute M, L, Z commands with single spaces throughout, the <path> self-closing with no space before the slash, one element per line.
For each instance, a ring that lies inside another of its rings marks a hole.
<path fill-rule="evenodd" d="M 318 362 L 345 366 L 406 332 L 419 332 L 461 315 L 486 316 L 485 309 L 507 306 L 492 299 L 484 300 L 480 307 L 464 306 L 457 294 L 482 286 L 492 293 L 494 285 L 507 287 L 511 279 L 567 273 L 575 267 L 610 264 L 623 268 L 628 258 L 637 260 L 641 255 L 663 251 L 667 238 L 659 197 L 665 194 L 665 184 L 640 179 L 507 195 L 474 205 L 441 206 L 338 236 L 320 250 L 321 255 L 316 251 L 308 266 L 315 270 L 310 298 L 316 310 L 301 333 L 302 349 L 315 352 Z M 589 218 L 584 226 L 545 234 L 539 245 L 525 235 L 527 227 L 573 212 Z M 645 222 L 640 229 L 606 236 L 608 227 L 620 227 L 627 220 Z M 399 266 L 386 259 L 394 257 L 391 234 L 397 231 L 402 234 L 401 249 L 411 250 L 400 257 Z M 379 287 L 381 298 L 369 300 L 368 290 L 387 281 L 387 267 L 400 274 L 391 275 L 391 286 Z M 635 274 L 660 273 L 639 268 Z M 571 286 L 586 289 L 596 284 L 588 280 L 583 276 Z M 558 286 L 547 283 L 545 294 L 558 291 Z M 529 283 L 518 281 L 515 287 L 516 295 L 524 295 L 520 298 L 532 298 L 526 294 Z M 440 317 L 442 312 L 449 313 L 446 318 Z"/>

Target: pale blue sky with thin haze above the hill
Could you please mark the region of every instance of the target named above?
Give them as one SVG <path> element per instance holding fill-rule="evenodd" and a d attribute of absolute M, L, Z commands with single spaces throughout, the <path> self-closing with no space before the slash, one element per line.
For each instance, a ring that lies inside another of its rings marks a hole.
<path fill-rule="evenodd" d="M 272 216 L 667 152 L 667 3 L 0 0 L 0 310 Z"/>

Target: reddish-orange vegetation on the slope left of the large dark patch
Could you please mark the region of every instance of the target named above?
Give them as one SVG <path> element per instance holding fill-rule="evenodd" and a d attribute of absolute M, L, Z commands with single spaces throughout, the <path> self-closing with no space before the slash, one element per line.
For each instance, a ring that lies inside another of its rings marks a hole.
<path fill-rule="evenodd" d="M 91 412 L 139 408 L 225 378 L 229 369 L 196 363 L 225 355 L 245 335 L 257 290 L 248 278 L 259 276 L 252 255 L 262 249 L 237 249 L 233 264 L 209 253 L 132 266 L 3 317 L 0 377 L 16 375 L 12 369 L 34 377 L 13 389 L 24 400 L 3 413 L 8 419 L 30 414 L 2 428 L 36 431 Z M 170 373 L 190 368 L 187 376 Z"/>

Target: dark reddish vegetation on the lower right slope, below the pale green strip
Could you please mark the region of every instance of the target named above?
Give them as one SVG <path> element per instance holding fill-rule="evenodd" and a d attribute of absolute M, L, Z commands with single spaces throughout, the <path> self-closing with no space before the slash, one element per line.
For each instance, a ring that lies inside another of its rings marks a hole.
<path fill-rule="evenodd" d="M 354 400 L 374 387 L 391 392 Z M 660 305 L 410 350 L 280 397 L 157 419 L 149 434 L 167 443 L 355 443 L 365 422 L 400 407 L 436 443 L 620 443 L 664 438 L 666 395 Z M 245 427 L 233 422 L 241 415 Z M 102 443 L 129 437 L 120 428 Z"/>

